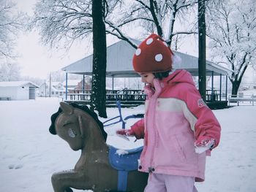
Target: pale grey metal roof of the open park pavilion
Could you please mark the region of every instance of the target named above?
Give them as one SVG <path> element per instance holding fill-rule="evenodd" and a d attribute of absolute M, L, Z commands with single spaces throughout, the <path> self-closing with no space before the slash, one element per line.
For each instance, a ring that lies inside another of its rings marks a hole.
<path fill-rule="evenodd" d="M 138 45 L 140 41 L 135 40 Z M 135 53 L 135 48 L 129 45 L 128 42 L 121 40 L 107 47 L 107 77 L 139 77 L 132 68 L 132 56 Z M 185 53 L 174 51 L 176 55 L 181 58 L 181 64 L 173 66 L 174 69 L 186 69 L 193 76 L 198 75 L 198 58 Z M 86 58 L 82 58 L 73 64 L 62 68 L 64 72 L 70 74 L 87 74 L 92 73 L 92 58 L 93 55 L 89 55 Z M 206 75 L 210 76 L 214 72 L 214 75 L 227 75 L 230 73 L 230 69 L 214 64 L 211 61 L 206 61 Z"/>

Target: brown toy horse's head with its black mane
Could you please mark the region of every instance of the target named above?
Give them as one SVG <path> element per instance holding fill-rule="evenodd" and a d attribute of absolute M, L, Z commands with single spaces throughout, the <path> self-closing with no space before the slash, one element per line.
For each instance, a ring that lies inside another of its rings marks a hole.
<path fill-rule="evenodd" d="M 72 150 L 80 150 L 84 146 L 86 138 L 86 126 L 91 122 L 99 125 L 104 139 L 105 133 L 102 123 L 98 120 L 96 113 L 91 112 L 85 105 L 60 103 L 58 112 L 51 116 L 51 125 L 49 131 L 51 134 L 58 134 L 59 137 L 69 143 Z M 85 120 L 86 119 L 86 122 Z"/>

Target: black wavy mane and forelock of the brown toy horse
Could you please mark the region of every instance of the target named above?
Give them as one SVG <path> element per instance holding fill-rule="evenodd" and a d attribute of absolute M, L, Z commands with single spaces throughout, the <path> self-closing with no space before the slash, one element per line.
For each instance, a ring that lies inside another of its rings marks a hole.
<path fill-rule="evenodd" d="M 72 105 L 72 107 L 78 108 L 80 110 L 83 110 L 84 112 L 89 113 L 89 115 L 91 115 L 91 117 L 94 118 L 96 123 L 99 125 L 99 128 L 102 131 L 102 135 L 103 135 L 105 141 L 107 140 L 108 135 L 104 130 L 103 123 L 99 120 L 98 115 L 94 111 L 91 111 L 89 109 L 89 107 L 87 107 L 86 105 L 75 104 L 75 103 L 70 103 L 70 105 Z M 59 107 L 59 110 L 57 112 L 53 113 L 53 115 L 50 116 L 51 124 L 50 124 L 49 131 L 50 131 L 51 134 L 57 134 L 56 129 L 55 129 L 55 121 L 56 121 L 56 118 L 58 118 L 58 116 L 61 112 L 62 112 L 61 107 Z"/>

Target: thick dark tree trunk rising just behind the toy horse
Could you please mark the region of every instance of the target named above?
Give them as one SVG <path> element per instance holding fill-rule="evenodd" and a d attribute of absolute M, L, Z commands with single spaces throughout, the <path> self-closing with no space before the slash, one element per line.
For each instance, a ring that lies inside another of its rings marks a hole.
<path fill-rule="evenodd" d="M 93 20 L 93 69 L 91 82 L 91 110 L 97 110 L 99 117 L 107 118 L 106 112 L 106 67 L 107 45 L 102 0 L 92 1 Z"/>

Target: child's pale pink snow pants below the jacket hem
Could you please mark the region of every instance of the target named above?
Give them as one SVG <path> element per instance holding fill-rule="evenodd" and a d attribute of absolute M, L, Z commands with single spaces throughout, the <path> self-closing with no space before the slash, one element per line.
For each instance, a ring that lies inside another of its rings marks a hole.
<path fill-rule="evenodd" d="M 149 174 L 144 192 L 197 192 L 195 177 Z"/>

